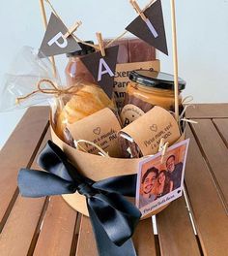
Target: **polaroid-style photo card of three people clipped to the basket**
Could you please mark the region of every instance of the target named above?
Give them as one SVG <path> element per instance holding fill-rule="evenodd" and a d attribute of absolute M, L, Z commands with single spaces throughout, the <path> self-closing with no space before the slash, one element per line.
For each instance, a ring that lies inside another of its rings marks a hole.
<path fill-rule="evenodd" d="M 185 161 L 189 139 L 145 157 L 139 163 L 136 187 L 136 207 L 142 216 L 163 207 L 183 195 Z"/>

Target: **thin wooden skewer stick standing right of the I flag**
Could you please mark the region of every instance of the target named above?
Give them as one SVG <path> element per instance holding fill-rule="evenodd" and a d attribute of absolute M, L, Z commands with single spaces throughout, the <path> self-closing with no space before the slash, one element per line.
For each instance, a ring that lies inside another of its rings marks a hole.
<path fill-rule="evenodd" d="M 177 29 L 176 29 L 175 0 L 170 0 L 170 1 L 171 1 L 171 16 L 172 16 L 175 117 L 176 117 L 177 122 L 179 123 L 178 47 L 177 47 Z"/>

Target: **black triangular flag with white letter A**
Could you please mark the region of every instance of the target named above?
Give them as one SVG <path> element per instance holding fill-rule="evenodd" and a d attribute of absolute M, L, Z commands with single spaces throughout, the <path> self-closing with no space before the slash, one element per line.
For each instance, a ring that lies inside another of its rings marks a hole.
<path fill-rule="evenodd" d="M 119 46 L 105 48 L 104 57 L 98 51 L 81 58 L 81 61 L 109 98 L 112 98 L 113 93 L 118 49 Z"/>

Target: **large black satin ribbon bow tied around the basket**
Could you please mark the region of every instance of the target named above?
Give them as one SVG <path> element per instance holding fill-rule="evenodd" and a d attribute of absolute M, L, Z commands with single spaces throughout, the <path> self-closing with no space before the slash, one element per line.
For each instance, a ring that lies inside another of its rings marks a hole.
<path fill-rule="evenodd" d="M 86 197 L 100 256 L 136 255 L 130 240 L 141 217 L 124 196 L 134 196 L 136 175 L 116 176 L 95 182 L 82 176 L 56 144 L 48 141 L 38 164 L 46 172 L 21 169 L 18 187 L 24 197 L 72 194 Z"/>

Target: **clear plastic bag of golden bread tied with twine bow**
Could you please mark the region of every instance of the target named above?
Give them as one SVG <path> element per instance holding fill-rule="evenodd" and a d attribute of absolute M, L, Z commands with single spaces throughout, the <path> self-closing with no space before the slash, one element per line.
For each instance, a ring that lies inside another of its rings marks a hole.
<path fill-rule="evenodd" d="M 56 134 L 71 144 L 67 124 L 72 124 L 104 108 L 115 110 L 115 104 L 99 85 L 79 79 L 71 86 L 63 85 L 47 58 L 24 47 L 17 54 L 11 70 L 0 88 L 0 112 L 26 108 L 48 102 L 51 122 Z"/>

